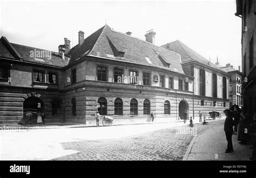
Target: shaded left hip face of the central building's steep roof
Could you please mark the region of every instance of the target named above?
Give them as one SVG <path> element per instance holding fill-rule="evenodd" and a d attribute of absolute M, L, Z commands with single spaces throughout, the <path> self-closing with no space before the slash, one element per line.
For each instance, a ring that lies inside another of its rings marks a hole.
<path fill-rule="evenodd" d="M 106 25 L 92 33 L 89 37 L 85 38 L 81 46 L 77 44 L 76 46 L 72 47 L 72 49 L 69 51 L 69 55 L 71 56 L 69 64 L 74 63 L 77 59 L 86 54 L 90 54 L 105 26 Z"/>

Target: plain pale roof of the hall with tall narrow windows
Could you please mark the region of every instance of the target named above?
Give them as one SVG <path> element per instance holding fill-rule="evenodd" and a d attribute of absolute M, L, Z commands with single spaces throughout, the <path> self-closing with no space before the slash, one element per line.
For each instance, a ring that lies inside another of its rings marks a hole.
<path fill-rule="evenodd" d="M 165 49 L 169 49 L 171 51 L 179 53 L 181 56 L 181 61 L 183 63 L 188 62 L 188 61 L 197 61 L 200 64 L 210 66 L 216 70 L 223 72 L 223 70 L 221 70 L 217 65 L 210 63 L 209 60 L 207 60 L 206 58 L 201 56 L 196 51 L 192 50 L 190 47 L 188 47 L 184 43 L 180 42 L 180 40 L 176 40 L 174 42 L 167 43 L 161 47 L 164 47 Z"/>

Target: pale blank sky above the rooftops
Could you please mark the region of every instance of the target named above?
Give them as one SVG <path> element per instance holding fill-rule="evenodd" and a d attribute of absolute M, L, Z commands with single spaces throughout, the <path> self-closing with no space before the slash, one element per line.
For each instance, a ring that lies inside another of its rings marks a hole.
<path fill-rule="evenodd" d="M 145 40 L 154 29 L 156 45 L 179 39 L 194 51 L 235 69 L 241 65 L 241 18 L 235 0 L 212 1 L 6 1 L 0 0 L 0 36 L 9 42 L 58 51 L 64 38 L 78 44 L 105 24 Z"/>

